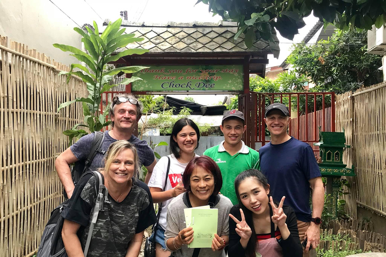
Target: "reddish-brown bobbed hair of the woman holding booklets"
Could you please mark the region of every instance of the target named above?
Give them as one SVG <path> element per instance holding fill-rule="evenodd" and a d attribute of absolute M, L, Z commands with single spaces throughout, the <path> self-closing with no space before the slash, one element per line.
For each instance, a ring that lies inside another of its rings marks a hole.
<path fill-rule="evenodd" d="M 221 176 L 221 171 L 217 163 L 208 156 L 195 157 L 187 164 L 185 171 L 182 174 L 182 183 L 186 191 L 190 191 L 190 176 L 197 166 L 212 173 L 215 180 L 215 190 L 213 191 L 213 195 L 217 195 L 223 186 L 223 177 Z"/>

